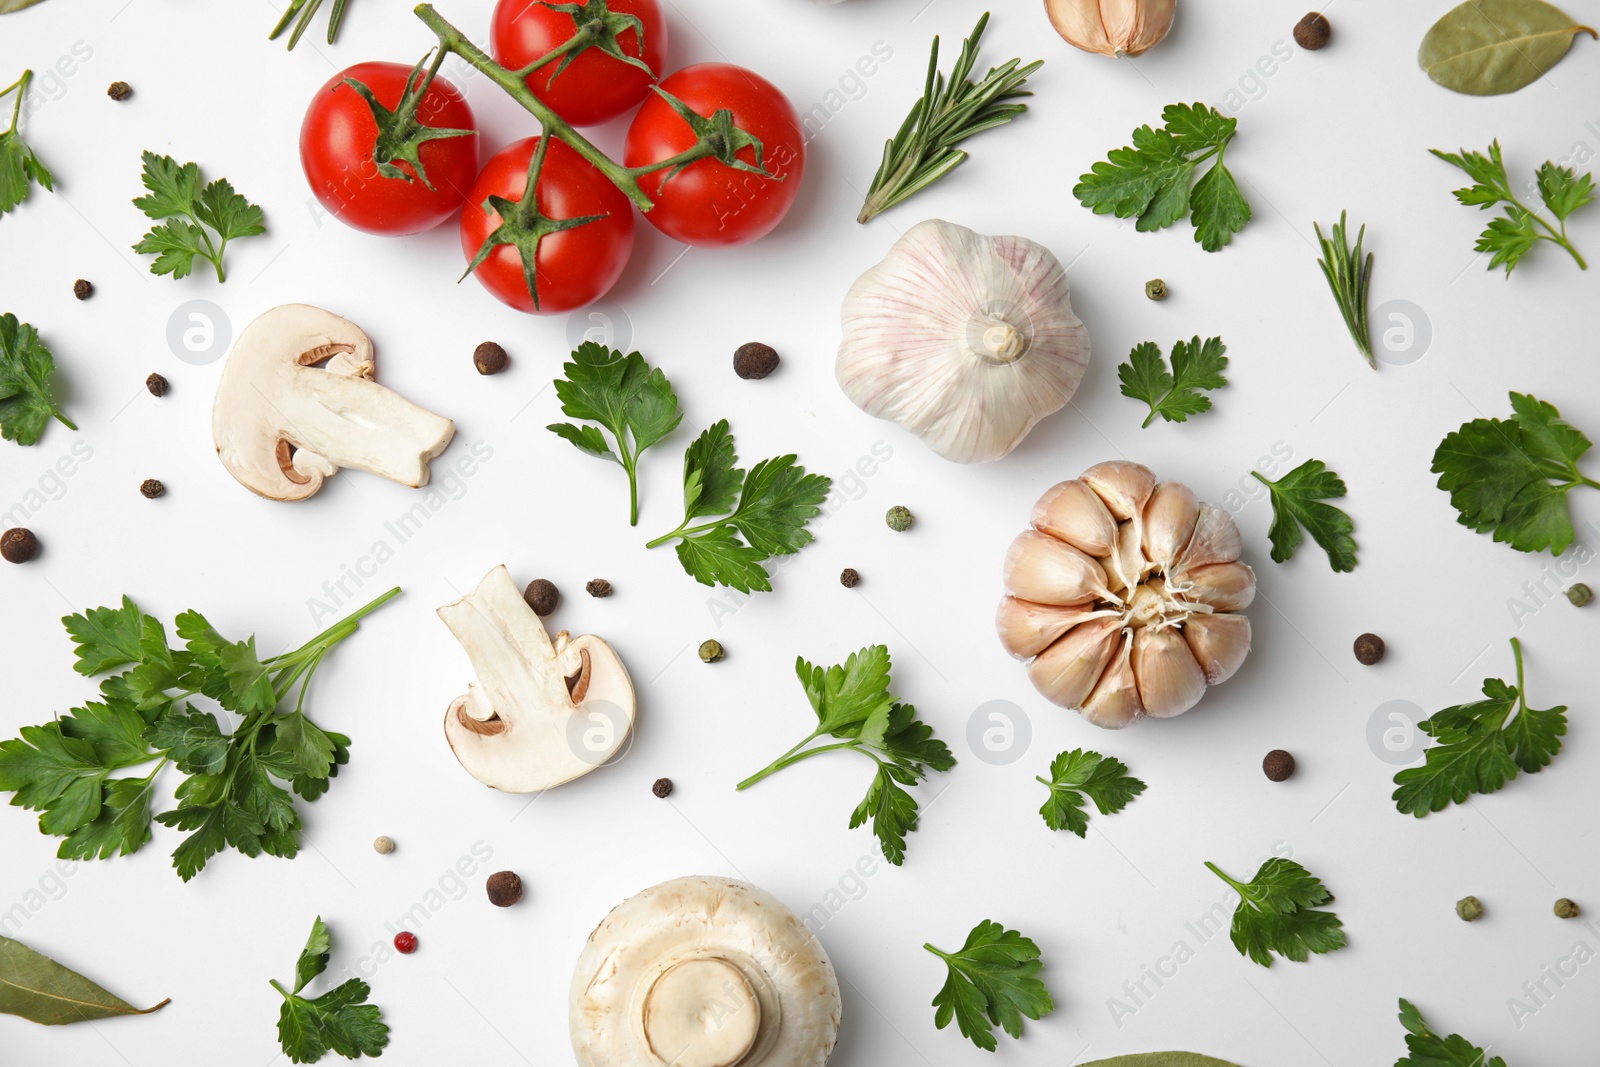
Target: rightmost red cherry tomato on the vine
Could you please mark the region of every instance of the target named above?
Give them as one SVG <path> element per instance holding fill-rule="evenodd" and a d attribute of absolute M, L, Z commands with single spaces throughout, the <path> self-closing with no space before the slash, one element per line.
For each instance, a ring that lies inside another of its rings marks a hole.
<path fill-rule="evenodd" d="M 776 85 L 726 62 L 683 67 L 661 83 L 698 115 L 733 112 L 733 125 L 762 141 L 765 174 L 741 171 L 715 158 L 643 176 L 638 184 L 656 206 L 645 213 L 658 230 L 686 245 L 742 245 L 766 235 L 800 195 L 805 133 L 794 106 Z M 694 131 L 672 107 L 651 96 L 627 128 L 622 158 L 648 166 L 694 146 Z M 755 163 L 754 146 L 738 158 Z"/>

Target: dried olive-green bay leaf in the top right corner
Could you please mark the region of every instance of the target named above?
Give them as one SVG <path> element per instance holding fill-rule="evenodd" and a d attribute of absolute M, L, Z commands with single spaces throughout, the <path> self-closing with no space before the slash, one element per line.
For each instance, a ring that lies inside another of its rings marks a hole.
<path fill-rule="evenodd" d="M 1416 61 L 1446 90 L 1498 96 L 1538 82 L 1578 34 L 1600 37 L 1544 0 L 1466 0 L 1434 22 Z"/>

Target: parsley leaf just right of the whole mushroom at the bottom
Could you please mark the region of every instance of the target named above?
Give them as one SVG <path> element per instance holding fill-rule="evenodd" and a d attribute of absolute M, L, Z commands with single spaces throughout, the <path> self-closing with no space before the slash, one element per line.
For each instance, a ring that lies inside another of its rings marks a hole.
<path fill-rule="evenodd" d="M 1014 929 L 984 920 L 966 934 L 958 952 L 923 949 L 944 960 L 949 974 L 933 998 L 933 1025 L 942 1030 L 955 1019 L 962 1037 L 984 1051 L 995 1051 L 994 1029 L 1022 1037 L 1022 1017 L 1043 1019 L 1056 1009 L 1050 990 L 1035 977 L 1043 966 L 1038 945 Z"/>

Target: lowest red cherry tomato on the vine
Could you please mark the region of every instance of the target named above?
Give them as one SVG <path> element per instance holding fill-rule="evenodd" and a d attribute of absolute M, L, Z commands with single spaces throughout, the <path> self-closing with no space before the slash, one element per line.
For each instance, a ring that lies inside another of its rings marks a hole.
<path fill-rule="evenodd" d="M 461 251 L 467 262 L 501 224 L 499 213 L 486 206 L 490 197 L 522 203 L 528 186 L 528 163 L 539 147 L 539 138 L 526 138 L 501 149 L 467 194 L 461 213 Z M 539 211 L 550 219 L 578 219 L 589 214 L 605 218 L 546 235 L 539 242 L 538 286 L 539 306 L 522 270 L 522 253 L 515 245 L 499 245 L 478 264 L 474 275 L 490 293 L 517 310 L 557 315 L 592 304 L 616 285 L 627 256 L 634 251 L 634 205 L 562 141 L 552 139 L 539 171 Z"/>

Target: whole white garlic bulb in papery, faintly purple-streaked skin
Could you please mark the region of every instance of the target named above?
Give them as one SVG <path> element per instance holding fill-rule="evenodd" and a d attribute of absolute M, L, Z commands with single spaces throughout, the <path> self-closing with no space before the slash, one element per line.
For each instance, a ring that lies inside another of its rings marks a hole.
<path fill-rule="evenodd" d="M 955 462 L 1016 448 L 1083 379 L 1090 338 L 1043 245 L 930 219 L 845 296 L 845 395 Z"/>

